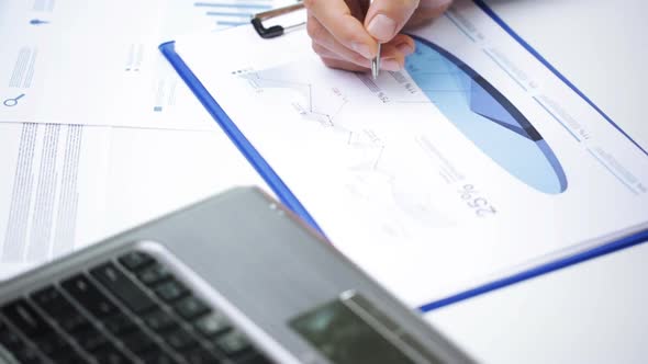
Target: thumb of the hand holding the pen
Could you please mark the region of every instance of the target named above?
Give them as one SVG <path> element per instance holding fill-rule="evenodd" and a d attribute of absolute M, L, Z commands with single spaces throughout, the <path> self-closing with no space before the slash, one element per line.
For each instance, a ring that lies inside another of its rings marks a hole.
<path fill-rule="evenodd" d="M 380 43 L 391 41 L 418 7 L 418 0 L 376 0 L 365 18 L 365 27 Z"/>

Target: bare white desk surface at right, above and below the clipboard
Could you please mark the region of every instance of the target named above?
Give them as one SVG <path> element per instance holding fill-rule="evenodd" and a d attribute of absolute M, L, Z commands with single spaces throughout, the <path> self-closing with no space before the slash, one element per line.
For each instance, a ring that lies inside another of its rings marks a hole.
<path fill-rule="evenodd" d="M 648 147 L 648 2 L 491 0 L 490 5 Z M 647 207 L 648 208 L 648 207 Z M 480 362 L 648 362 L 648 243 L 427 315 Z"/>

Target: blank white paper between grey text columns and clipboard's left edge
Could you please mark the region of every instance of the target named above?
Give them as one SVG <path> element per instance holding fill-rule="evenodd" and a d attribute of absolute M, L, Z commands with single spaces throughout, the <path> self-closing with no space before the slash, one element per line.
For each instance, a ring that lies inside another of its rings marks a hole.
<path fill-rule="evenodd" d="M 114 128 L 110 161 L 105 192 L 108 235 L 233 186 L 265 186 L 221 129 L 208 133 Z"/>

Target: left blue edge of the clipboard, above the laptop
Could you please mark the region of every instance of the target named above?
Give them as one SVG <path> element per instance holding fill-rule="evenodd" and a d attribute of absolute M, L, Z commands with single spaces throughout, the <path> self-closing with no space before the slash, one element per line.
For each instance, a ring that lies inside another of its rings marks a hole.
<path fill-rule="evenodd" d="M 236 124 L 234 124 L 223 107 L 219 105 L 216 100 L 214 100 L 202 82 L 200 82 L 198 77 L 193 75 L 185 60 L 182 60 L 178 53 L 176 53 L 176 42 L 163 43 L 159 45 L 159 49 L 178 75 L 180 75 L 180 78 L 187 83 L 189 89 L 191 89 L 200 103 L 206 109 L 212 118 L 221 126 L 227 137 L 230 137 L 230 140 L 234 143 L 236 148 L 238 148 L 238 150 L 245 156 L 257 173 L 261 175 L 264 181 L 266 181 L 270 189 L 277 194 L 281 203 L 288 206 L 288 208 L 309 224 L 309 226 L 325 237 L 324 231 L 320 228 L 317 223 L 315 223 L 311 214 L 309 214 L 297 196 L 290 191 L 286 183 L 283 183 L 281 178 L 275 172 L 264 157 L 261 157 L 252 143 L 247 140 L 245 135 L 241 133 Z"/>

